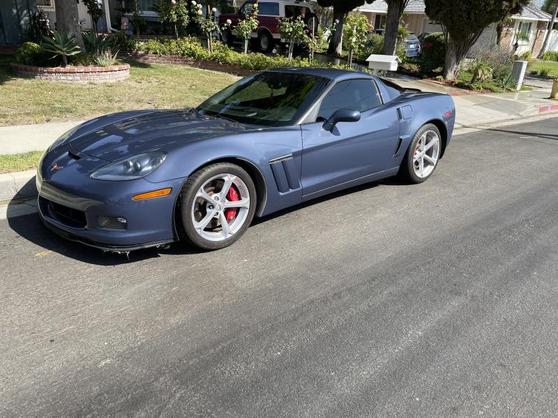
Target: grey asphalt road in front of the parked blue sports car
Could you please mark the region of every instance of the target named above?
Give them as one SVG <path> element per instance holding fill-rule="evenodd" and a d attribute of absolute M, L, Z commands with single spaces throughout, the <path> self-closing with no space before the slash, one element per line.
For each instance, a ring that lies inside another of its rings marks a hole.
<path fill-rule="evenodd" d="M 0 416 L 556 416 L 557 185 L 552 118 L 211 253 L 0 221 Z"/>

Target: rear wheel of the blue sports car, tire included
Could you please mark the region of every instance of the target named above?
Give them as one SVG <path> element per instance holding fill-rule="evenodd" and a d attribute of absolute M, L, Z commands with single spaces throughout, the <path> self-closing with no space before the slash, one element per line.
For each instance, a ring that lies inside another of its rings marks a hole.
<path fill-rule="evenodd" d="M 437 167 L 442 150 L 440 131 L 432 123 L 416 132 L 401 162 L 399 173 L 411 183 L 423 183 Z"/>

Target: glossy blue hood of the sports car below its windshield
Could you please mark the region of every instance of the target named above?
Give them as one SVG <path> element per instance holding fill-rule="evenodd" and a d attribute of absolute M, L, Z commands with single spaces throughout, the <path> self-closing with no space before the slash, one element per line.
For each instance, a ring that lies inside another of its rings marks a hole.
<path fill-rule="evenodd" d="M 248 130 L 246 125 L 201 116 L 195 111 L 139 111 L 103 116 L 84 123 L 70 139 L 81 153 L 106 161 L 120 160 L 152 150 L 167 150 L 188 141 L 199 141 Z"/>

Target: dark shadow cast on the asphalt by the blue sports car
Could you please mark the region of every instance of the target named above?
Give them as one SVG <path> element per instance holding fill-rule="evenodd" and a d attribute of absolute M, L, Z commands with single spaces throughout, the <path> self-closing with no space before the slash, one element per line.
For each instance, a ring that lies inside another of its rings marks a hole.
<path fill-rule="evenodd" d="M 35 179 L 29 180 L 29 183 L 34 183 Z M 252 225 L 262 224 L 276 217 L 280 217 L 290 212 L 307 208 L 309 206 L 321 203 L 324 201 L 329 201 L 331 199 L 338 199 L 341 196 L 358 193 L 366 189 L 372 189 L 379 185 L 405 185 L 405 183 L 398 180 L 398 178 L 389 178 L 386 180 L 379 180 L 373 183 L 366 183 L 364 185 L 359 185 L 351 187 L 349 189 L 340 190 L 339 192 L 334 192 L 332 194 L 327 194 L 326 196 L 321 196 L 310 201 L 300 203 L 299 205 L 292 206 L 279 212 L 274 212 L 265 217 L 255 218 Z M 27 187 L 27 185 L 26 185 Z M 27 201 L 27 203 L 22 203 L 21 199 L 13 199 L 8 204 L 7 219 L 10 229 L 12 229 L 17 235 L 24 238 L 25 240 L 33 243 L 34 245 L 43 248 L 47 251 L 53 251 L 63 256 L 73 258 L 77 261 L 82 261 L 84 263 L 91 263 L 96 265 L 119 265 L 124 263 L 135 263 L 137 261 L 144 261 L 149 258 L 158 258 L 164 255 L 170 256 L 181 256 L 186 254 L 200 254 L 204 251 L 191 247 L 184 244 L 183 242 L 174 242 L 167 248 L 148 248 L 140 249 L 137 251 L 131 251 L 128 254 L 115 254 L 110 251 L 102 251 L 93 247 L 88 247 L 78 242 L 71 242 L 64 238 L 61 238 L 56 233 L 47 229 L 43 223 L 40 221 L 38 213 L 33 211 L 32 208 L 29 210 L 28 206 L 27 213 L 22 213 L 22 206 L 25 206 L 32 201 Z M 24 208 L 25 209 L 25 208 Z"/>

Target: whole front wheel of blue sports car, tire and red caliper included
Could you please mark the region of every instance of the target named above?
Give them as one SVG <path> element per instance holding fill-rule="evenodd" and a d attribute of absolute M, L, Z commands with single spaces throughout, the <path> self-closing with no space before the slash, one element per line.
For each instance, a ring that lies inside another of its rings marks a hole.
<path fill-rule="evenodd" d="M 250 226 L 256 188 L 241 167 L 211 164 L 186 180 L 179 205 L 182 238 L 202 249 L 220 249 L 238 240 Z"/>

